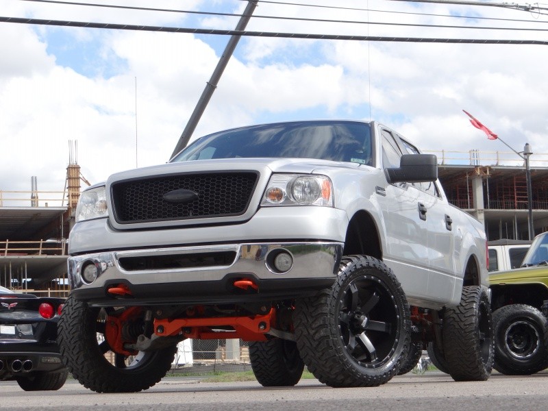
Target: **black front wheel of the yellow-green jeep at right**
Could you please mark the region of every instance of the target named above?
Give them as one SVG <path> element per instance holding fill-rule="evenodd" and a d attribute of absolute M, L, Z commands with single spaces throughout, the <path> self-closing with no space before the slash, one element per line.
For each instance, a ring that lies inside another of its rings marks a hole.
<path fill-rule="evenodd" d="M 525 304 L 493 312 L 495 369 L 506 375 L 530 375 L 548 368 L 547 319 Z"/>

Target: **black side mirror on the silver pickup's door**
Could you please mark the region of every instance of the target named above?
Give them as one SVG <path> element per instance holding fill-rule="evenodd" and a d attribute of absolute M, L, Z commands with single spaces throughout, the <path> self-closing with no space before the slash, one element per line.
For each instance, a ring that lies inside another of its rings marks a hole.
<path fill-rule="evenodd" d="M 399 169 L 386 169 L 390 183 L 435 182 L 438 179 L 438 159 L 434 154 L 403 154 Z"/>

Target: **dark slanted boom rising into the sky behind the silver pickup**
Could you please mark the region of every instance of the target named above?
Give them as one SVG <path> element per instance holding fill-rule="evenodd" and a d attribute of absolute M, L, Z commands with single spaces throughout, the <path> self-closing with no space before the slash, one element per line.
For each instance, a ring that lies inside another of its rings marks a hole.
<path fill-rule="evenodd" d="M 253 14 L 253 11 L 257 7 L 257 3 L 258 0 L 248 1 L 247 7 L 243 12 L 242 17 L 240 18 L 240 21 L 238 21 L 238 25 L 236 25 L 236 31 L 242 32 L 245 29 L 247 23 L 251 19 L 251 14 Z M 221 75 L 223 75 L 223 71 L 225 71 L 228 61 L 230 60 L 232 53 L 234 53 L 234 49 L 236 49 L 236 45 L 238 45 L 238 41 L 241 37 L 242 36 L 231 36 L 230 40 L 228 40 L 225 51 L 223 51 L 223 55 L 221 55 L 221 58 L 219 59 L 219 62 L 217 63 L 217 66 L 213 71 L 213 74 L 211 75 L 210 81 L 206 84 L 206 88 L 203 89 L 201 97 L 196 107 L 194 108 L 194 112 L 192 112 L 190 119 L 188 119 L 188 123 L 186 123 L 186 127 L 184 127 L 181 137 L 179 137 L 177 145 L 175 145 L 175 149 L 171 154 L 171 158 L 173 158 L 175 154 L 179 153 L 179 151 L 184 149 L 184 147 L 186 147 L 186 145 L 188 144 L 188 140 L 190 140 L 190 137 L 192 137 L 192 133 L 196 129 L 196 126 L 200 121 L 201 115 L 203 114 L 204 110 L 206 110 L 211 96 L 213 95 L 215 88 L 217 88 L 219 79 L 221 79 Z"/>

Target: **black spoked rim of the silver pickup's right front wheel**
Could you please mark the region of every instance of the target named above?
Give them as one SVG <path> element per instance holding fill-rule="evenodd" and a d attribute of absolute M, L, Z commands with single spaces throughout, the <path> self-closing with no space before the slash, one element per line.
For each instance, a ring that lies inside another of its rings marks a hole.
<path fill-rule="evenodd" d="M 351 360 L 366 368 L 390 361 L 399 340 L 399 310 L 377 277 L 353 279 L 340 294 L 340 340 Z"/>

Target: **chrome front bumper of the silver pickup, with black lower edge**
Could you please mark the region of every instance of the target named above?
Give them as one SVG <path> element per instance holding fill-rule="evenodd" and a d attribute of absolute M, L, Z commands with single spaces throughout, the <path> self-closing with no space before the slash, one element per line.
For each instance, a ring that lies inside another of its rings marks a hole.
<path fill-rule="evenodd" d="M 171 247 L 109 251 L 69 258 L 69 281 L 75 297 L 80 299 L 112 299 L 108 288 L 124 284 L 132 297 L 151 301 L 158 297 L 238 295 L 232 290 L 232 279 L 244 278 L 257 282 L 258 294 L 275 290 L 288 295 L 296 286 L 325 286 L 337 275 L 342 242 L 272 242 L 200 247 Z M 288 253 L 292 265 L 282 273 L 275 269 L 273 259 Z M 86 284 L 82 271 L 95 264 L 97 279 Z M 284 281 L 285 280 L 285 281 Z M 282 285 L 283 284 L 283 285 Z M 297 284 L 300 284 L 297 286 Z M 316 287 L 317 288 L 317 287 Z"/>

